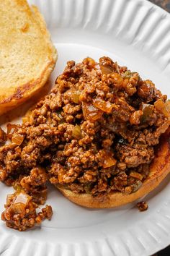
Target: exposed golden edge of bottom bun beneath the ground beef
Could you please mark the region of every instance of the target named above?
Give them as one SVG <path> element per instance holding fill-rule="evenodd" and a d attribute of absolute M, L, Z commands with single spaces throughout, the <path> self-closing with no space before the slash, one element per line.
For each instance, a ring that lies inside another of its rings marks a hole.
<path fill-rule="evenodd" d="M 129 202 L 138 200 L 147 195 L 166 177 L 170 172 L 170 128 L 165 135 L 161 137 L 160 143 L 156 148 L 156 156 L 151 163 L 150 174 L 143 186 L 130 195 L 124 195 L 121 192 L 110 193 L 104 197 L 91 197 L 89 194 L 76 194 L 71 190 L 58 186 L 58 189 L 72 202 L 87 208 L 113 208 L 126 205 Z"/>

